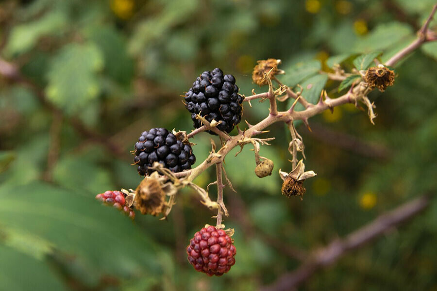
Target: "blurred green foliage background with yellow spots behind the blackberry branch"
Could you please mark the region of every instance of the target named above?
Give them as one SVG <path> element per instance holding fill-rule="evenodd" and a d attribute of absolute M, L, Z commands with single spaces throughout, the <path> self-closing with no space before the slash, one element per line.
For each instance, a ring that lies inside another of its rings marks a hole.
<path fill-rule="evenodd" d="M 370 94 L 374 126 L 366 112 L 341 106 L 312 118 L 312 133 L 298 127 L 306 168 L 318 173 L 303 201 L 280 193 L 276 173 L 291 170 L 283 125 L 270 128 L 265 136 L 276 140 L 260 152 L 274 175 L 254 175 L 249 147 L 226 158 L 238 193 L 225 189 L 225 224 L 235 228 L 237 255 L 223 277 L 186 260 L 190 237 L 215 223 L 192 191 L 178 195 L 167 221 L 137 213 L 133 223 L 94 198 L 140 182 L 130 150 L 142 131 L 192 129 L 180 95 L 202 71 L 220 67 L 250 95 L 267 90 L 252 83 L 256 61 L 277 58 L 286 84 L 318 81 L 336 97 L 339 82 L 318 74 L 330 71 L 330 57 L 341 55 L 346 71 L 357 53 L 381 50 L 387 60 L 415 38 L 433 2 L 1 1 L 0 290 L 257 290 L 296 269 L 306 251 L 436 191 L 437 46 L 429 44 L 396 67 L 393 87 Z M 252 105 L 250 123 L 268 113 L 267 103 Z M 197 164 L 210 138 L 194 139 Z M 436 245 L 433 201 L 300 290 L 437 290 Z"/>

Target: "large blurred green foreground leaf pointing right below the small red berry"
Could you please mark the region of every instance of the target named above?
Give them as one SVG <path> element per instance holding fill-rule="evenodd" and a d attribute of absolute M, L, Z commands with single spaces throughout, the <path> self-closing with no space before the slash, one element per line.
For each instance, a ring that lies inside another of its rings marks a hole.
<path fill-rule="evenodd" d="M 147 234 L 118 210 L 101 205 L 94 195 L 32 183 L 2 186 L 0 199 L 3 225 L 50 243 L 56 253 L 71 255 L 96 275 L 132 276 L 160 270 L 159 248 Z"/>

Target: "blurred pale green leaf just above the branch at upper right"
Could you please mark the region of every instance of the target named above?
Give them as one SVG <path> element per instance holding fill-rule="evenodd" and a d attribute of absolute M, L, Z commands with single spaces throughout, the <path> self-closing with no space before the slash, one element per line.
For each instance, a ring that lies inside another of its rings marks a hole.
<path fill-rule="evenodd" d="M 369 34 L 359 39 L 355 51 L 369 52 L 388 49 L 413 34 L 411 27 L 401 22 L 389 22 L 376 26 Z"/>

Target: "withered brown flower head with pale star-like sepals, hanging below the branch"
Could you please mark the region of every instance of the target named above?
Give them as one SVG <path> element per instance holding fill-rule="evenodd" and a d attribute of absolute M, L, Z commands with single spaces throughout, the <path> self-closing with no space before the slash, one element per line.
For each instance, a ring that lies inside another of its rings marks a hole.
<path fill-rule="evenodd" d="M 302 160 L 299 161 L 293 171 L 288 174 L 279 170 L 279 175 L 284 180 L 281 189 L 283 195 L 286 195 L 288 198 L 291 196 L 300 196 L 301 200 L 303 199 L 303 194 L 306 192 L 305 187 L 303 187 L 303 181 L 317 175 L 314 171 L 304 171 L 305 165 Z"/>

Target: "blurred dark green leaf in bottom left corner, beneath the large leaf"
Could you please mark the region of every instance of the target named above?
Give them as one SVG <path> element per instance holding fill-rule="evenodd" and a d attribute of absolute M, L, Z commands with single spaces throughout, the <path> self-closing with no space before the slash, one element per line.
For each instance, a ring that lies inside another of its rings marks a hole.
<path fill-rule="evenodd" d="M 1 290 L 35 291 L 67 288 L 48 264 L 0 243 Z"/>

